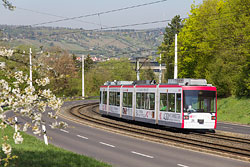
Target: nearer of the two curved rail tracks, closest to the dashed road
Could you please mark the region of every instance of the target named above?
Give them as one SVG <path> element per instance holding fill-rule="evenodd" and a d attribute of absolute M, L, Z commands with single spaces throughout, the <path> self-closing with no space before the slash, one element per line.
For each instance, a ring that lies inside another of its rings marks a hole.
<path fill-rule="evenodd" d="M 92 122 L 95 124 L 106 126 L 109 128 L 111 127 L 111 128 L 115 128 L 115 129 L 119 129 L 119 130 L 124 130 L 127 132 L 145 135 L 148 137 L 161 139 L 164 141 L 171 141 L 171 142 L 175 142 L 175 143 L 179 143 L 179 144 L 186 144 L 186 145 L 195 146 L 195 147 L 198 146 L 199 148 L 203 148 L 203 149 L 209 149 L 212 151 L 219 151 L 219 152 L 223 152 L 223 153 L 234 154 L 237 156 L 243 156 L 243 157 L 247 158 L 248 161 L 250 161 L 250 150 L 249 149 L 238 148 L 238 147 L 228 146 L 228 145 L 222 145 L 222 144 L 218 144 L 218 143 L 212 143 L 212 142 L 202 141 L 202 140 L 193 139 L 193 138 L 185 138 L 185 137 L 175 136 L 175 135 L 171 135 L 171 134 L 163 134 L 163 133 L 159 133 L 159 132 L 156 132 L 153 130 L 146 130 L 146 129 L 141 129 L 141 128 L 137 128 L 137 127 L 131 128 L 131 126 L 126 126 L 124 124 L 121 125 L 120 123 L 115 123 L 115 122 L 110 122 L 110 121 L 104 121 L 101 119 L 93 118 L 89 115 L 84 114 L 83 112 L 80 113 L 79 110 L 81 110 L 82 108 L 85 108 L 85 107 L 92 107 L 92 110 L 93 110 L 94 107 L 97 107 L 97 103 L 88 103 L 88 104 L 84 104 L 84 105 L 74 106 L 70 109 L 70 113 L 78 118 L 84 119 L 86 121 L 89 121 L 89 122 Z M 201 136 L 204 136 L 204 135 L 201 135 Z M 221 140 L 223 140 L 223 139 L 221 139 Z"/>

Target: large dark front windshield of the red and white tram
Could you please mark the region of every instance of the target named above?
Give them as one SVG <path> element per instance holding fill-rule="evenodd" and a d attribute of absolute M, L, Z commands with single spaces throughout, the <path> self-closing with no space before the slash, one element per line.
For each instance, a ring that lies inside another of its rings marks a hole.
<path fill-rule="evenodd" d="M 205 90 L 184 90 L 183 91 L 184 112 L 216 112 L 216 92 Z"/>

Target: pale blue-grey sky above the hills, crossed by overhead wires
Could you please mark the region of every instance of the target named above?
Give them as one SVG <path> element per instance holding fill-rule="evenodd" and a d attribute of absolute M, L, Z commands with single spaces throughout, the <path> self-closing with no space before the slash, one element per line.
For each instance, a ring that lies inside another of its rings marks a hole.
<path fill-rule="evenodd" d="M 0 6 L 0 24 L 52 26 L 83 29 L 102 29 L 113 26 L 171 20 L 175 15 L 187 17 L 191 4 L 202 0 L 167 0 L 138 8 L 94 15 L 74 20 L 40 24 L 109 10 L 130 7 L 159 0 L 9 0 L 16 9 L 9 11 Z M 149 29 L 166 27 L 169 22 L 128 26 L 127 29 Z M 36 25 L 40 24 L 40 25 Z"/>

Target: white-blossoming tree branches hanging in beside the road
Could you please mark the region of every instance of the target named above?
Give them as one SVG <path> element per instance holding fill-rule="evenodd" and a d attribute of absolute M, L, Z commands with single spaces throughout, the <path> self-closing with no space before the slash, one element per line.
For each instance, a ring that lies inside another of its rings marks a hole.
<path fill-rule="evenodd" d="M 13 55 L 13 50 L 0 48 L 0 56 L 10 57 Z M 4 134 L 6 125 L 6 116 L 1 106 L 8 106 L 15 115 L 25 116 L 30 118 L 31 122 L 25 122 L 23 126 L 18 125 L 18 131 L 14 132 L 13 139 L 15 144 L 21 144 L 23 138 L 19 133 L 20 130 L 27 131 L 28 128 L 36 135 L 41 135 L 42 117 L 45 116 L 47 107 L 57 112 L 60 110 L 63 101 L 57 98 L 45 86 L 49 84 L 47 77 L 36 79 L 32 86 L 29 77 L 22 71 L 5 70 L 4 79 L 0 79 L 0 129 Z M 65 122 L 58 122 L 56 113 L 46 112 L 48 117 L 53 118 L 54 122 L 51 124 L 52 128 L 65 128 Z M 11 117 L 7 119 L 8 122 L 15 125 L 15 120 Z M 11 155 L 12 147 L 8 143 L 10 136 L 3 135 L 2 151 L 6 157 L 0 157 L 0 164 L 7 166 L 11 159 L 17 158 Z"/>

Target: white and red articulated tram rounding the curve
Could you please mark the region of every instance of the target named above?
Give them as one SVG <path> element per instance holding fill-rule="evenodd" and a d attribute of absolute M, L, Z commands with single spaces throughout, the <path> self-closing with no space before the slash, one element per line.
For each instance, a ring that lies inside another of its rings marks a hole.
<path fill-rule="evenodd" d="M 103 115 L 169 127 L 215 129 L 216 87 L 204 79 L 106 82 L 100 87 L 99 110 Z"/>

